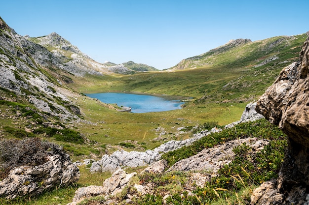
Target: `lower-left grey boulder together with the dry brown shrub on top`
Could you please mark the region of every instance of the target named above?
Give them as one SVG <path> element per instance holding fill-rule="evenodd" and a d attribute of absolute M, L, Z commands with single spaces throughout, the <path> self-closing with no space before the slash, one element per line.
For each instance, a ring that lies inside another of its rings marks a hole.
<path fill-rule="evenodd" d="M 36 166 L 16 166 L 11 169 L 8 176 L 0 181 L 0 196 L 5 197 L 6 199 L 15 199 L 23 196 L 32 197 L 42 193 L 45 190 L 56 187 L 59 188 L 60 186 L 77 182 L 79 179 L 79 169 L 72 163 L 70 156 L 60 147 L 48 144 L 48 146 L 46 146 L 46 150 L 42 151 L 40 148 L 46 143 L 38 143 L 38 141 L 34 141 L 32 139 L 29 141 L 30 143 L 21 141 L 20 144 L 28 143 L 28 145 L 32 147 L 8 147 L 5 145 L 11 145 L 12 143 L 1 143 L 1 158 L 6 158 L 9 156 L 12 163 L 16 163 L 30 157 L 30 161 L 28 160 L 27 162 L 31 164 L 33 158 L 45 158 L 46 156 L 47 162 Z M 3 147 L 3 145 L 5 147 Z M 26 151 L 30 153 L 28 155 L 21 154 L 20 156 L 22 159 L 17 153 L 20 152 L 21 148 L 28 149 Z M 11 153 L 10 155 L 3 153 L 7 151 L 6 149 L 10 149 L 8 150 L 10 151 L 9 153 Z M 46 152 L 47 155 L 43 152 Z M 0 166 L 2 169 L 4 166 L 3 162 L 1 162 Z"/>

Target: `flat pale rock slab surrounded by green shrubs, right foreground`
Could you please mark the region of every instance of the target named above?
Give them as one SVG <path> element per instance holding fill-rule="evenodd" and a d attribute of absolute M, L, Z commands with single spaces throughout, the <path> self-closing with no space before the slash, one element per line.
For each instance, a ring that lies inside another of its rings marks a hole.
<path fill-rule="evenodd" d="M 252 148 L 252 152 L 260 151 L 269 144 L 268 140 L 257 140 L 256 138 L 245 138 L 229 141 L 223 145 L 206 148 L 187 159 L 176 162 L 170 167 L 170 171 L 207 171 L 215 175 L 224 165 L 232 162 L 235 153 L 233 148 L 246 144 Z"/>

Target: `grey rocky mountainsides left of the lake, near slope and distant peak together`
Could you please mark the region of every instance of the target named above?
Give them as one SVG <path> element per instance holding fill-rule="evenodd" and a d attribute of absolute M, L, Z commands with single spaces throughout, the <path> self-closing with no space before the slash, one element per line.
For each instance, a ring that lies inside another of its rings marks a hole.
<path fill-rule="evenodd" d="M 24 99 L 41 112 L 64 119 L 78 119 L 66 88 L 73 77 L 111 73 L 132 74 L 123 64 L 98 63 L 57 33 L 31 38 L 21 36 L 0 18 L 1 99 Z"/>

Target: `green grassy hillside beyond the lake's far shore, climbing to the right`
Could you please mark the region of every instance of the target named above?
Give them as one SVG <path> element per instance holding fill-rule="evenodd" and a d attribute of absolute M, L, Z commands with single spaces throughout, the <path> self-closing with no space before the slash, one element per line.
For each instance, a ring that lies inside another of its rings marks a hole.
<path fill-rule="evenodd" d="M 75 88 L 88 91 L 137 91 L 190 96 L 199 102 L 248 102 L 258 98 L 286 65 L 298 59 L 307 35 L 278 36 L 247 42 L 198 60 L 185 70 L 146 72 L 130 76 L 89 76 Z M 207 65 L 205 65 L 207 64 Z M 195 101 L 196 103 L 196 101 Z"/>

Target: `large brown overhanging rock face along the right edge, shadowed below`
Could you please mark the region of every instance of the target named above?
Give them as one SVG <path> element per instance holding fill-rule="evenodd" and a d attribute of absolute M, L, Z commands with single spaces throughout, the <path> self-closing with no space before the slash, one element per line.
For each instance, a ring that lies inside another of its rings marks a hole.
<path fill-rule="evenodd" d="M 267 202 L 251 204 L 309 204 L 309 38 L 300 60 L 285 67 L 257 103 L 257 112 L 288 135 L 288 150 L 272 189 L 265 189 Z M 272 194 L 270 194 L 272 193 Z M 256 194 L 256 193 L 254 193 Z M 279 201 L 274 199 L 280 198 Z M 273 200 L 273 201 L 272 201 Z"/>

